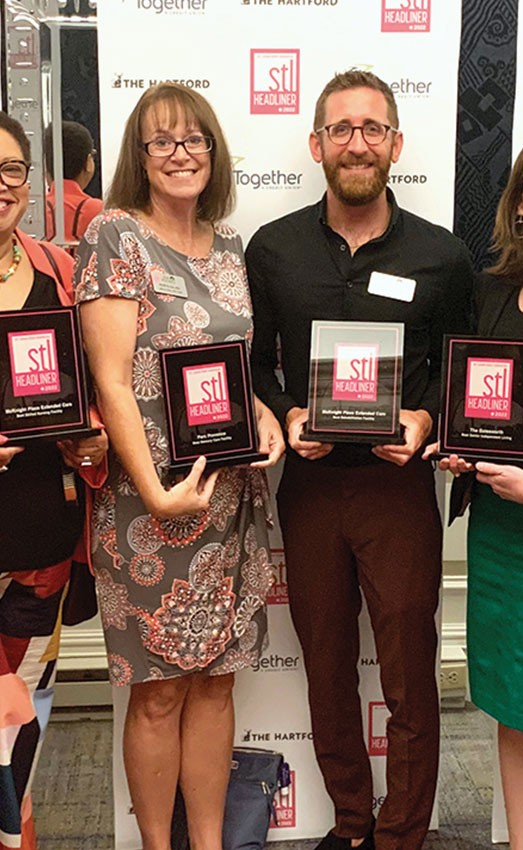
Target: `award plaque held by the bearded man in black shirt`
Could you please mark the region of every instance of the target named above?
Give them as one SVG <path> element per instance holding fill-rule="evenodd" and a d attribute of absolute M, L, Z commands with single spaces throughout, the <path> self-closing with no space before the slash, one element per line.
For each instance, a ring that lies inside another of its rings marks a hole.
<path fill-rule="evenodd" d="M 314 321 L 302 440 L 398 443 L 404 326 Z"/>

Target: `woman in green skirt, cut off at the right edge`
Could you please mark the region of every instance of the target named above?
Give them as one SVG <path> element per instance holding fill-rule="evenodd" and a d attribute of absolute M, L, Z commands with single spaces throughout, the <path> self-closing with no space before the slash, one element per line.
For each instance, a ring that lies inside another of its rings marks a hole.
<path fill-rule="evenodd" d="M 523 151 L 498 206 L 493 248 L 497 262 L 476 279 L 476 332 L 482 338 L 523 340 Z M 519 390 L 523 396 L 523 387 Z M 523 850 L 523 469 L 484 461 L 472 465 L 457 455 L 440 467 L 457 476 L 451 521 L 470 498 L 470 691 L 473 702 L 498 721 L 510 847 Z"/>

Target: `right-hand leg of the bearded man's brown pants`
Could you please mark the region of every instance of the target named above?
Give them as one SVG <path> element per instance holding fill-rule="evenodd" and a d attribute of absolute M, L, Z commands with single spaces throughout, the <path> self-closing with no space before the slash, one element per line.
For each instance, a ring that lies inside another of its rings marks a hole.
<path fill-rule="evenodd" d="M 441 523 L 432 470 L 417 459 L 351 472 L 347 535 L 374 631 L 387 728 L 387 797 L 376 850 L 420 850 L 439 756 L 437 634 Z M 348 497 L 346 499 L 348 501 Z"/>

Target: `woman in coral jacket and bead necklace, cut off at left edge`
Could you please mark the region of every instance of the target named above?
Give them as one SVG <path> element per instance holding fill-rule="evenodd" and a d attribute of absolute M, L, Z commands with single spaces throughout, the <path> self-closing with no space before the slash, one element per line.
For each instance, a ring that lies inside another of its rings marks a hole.
<path fill-rule="evenodd" d="M 29 201 L 30 164 L 22 126 L 0 112 L 0 311 L 72 301 L 72 258 L 17 229 Z M 0 404 L 8 402 L 7 391 L 7 379 L 0 378 Z M 80 479 L 77 500 L 66 501 L 64 474 L 82 469 L 96 484 L 106 449 L 103 433 L 27 447 L 10 446 L 0 435 L 0 850 L 36 848 L 31 779 L 51 711 L 62 604 L 73 553 L 81 557 L 84 524 Z"/>

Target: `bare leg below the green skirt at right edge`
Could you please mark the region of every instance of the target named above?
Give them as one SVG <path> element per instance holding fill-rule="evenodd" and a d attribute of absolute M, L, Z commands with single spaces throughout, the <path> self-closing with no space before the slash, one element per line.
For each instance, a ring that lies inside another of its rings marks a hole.
<path fill-rule="evenodd" d="M 499 723 L 498 747 L 510 850 L 523 850 L 523 732 Z"/>

